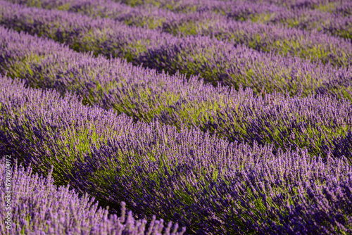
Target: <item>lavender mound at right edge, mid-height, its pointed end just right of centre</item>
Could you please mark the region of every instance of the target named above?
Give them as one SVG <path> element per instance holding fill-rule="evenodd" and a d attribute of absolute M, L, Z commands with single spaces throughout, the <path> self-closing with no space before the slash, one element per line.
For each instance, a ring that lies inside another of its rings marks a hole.
<path fill-rule="evenodd" d="M 270 143 L 282 149 L 306 147 L 311 155 L 352 159 L 350 101 L 267 94 L 251 103 L 221 108 L 210 117 L 199 127 L 230 141 Z"/>

